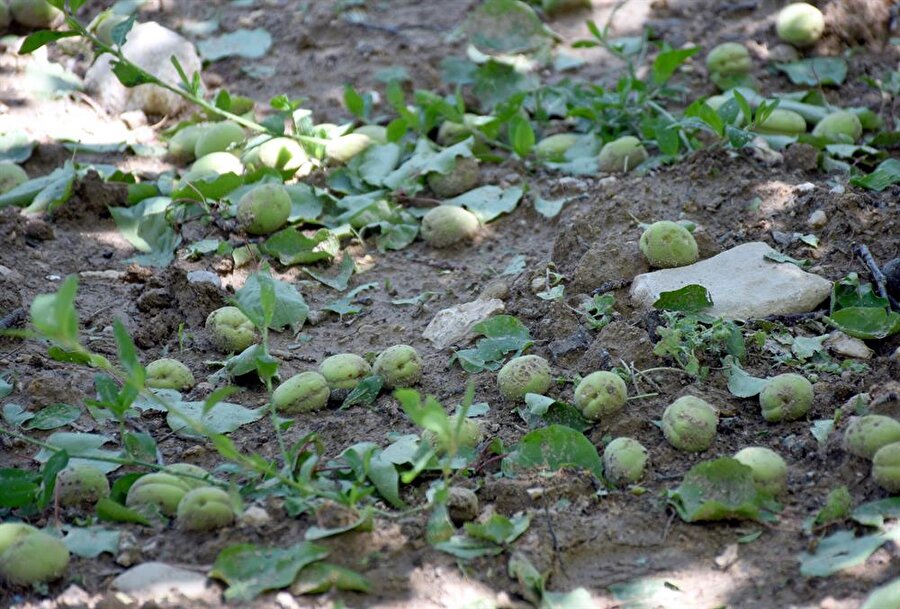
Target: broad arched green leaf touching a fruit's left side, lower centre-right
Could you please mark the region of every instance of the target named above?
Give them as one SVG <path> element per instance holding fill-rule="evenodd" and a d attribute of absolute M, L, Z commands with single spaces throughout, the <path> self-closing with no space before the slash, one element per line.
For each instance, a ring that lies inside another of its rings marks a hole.
<path fill-rule="evenodd" d="M 603 464 L 597 447 L 581 432 L 563 425 L 550 425 L 525 434 L 502 463 L 503 471 L 509 474 L 564 468 L 587 470 L 603 479 Z"/>

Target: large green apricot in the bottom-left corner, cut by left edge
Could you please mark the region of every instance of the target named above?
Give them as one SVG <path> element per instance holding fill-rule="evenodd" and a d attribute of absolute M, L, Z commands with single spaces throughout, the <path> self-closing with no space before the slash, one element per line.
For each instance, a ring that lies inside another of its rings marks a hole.
<path fill-rule="evenodd" d="M 69 566 L 69 549 L 62 540 L 34 531 L 0 553 L 0 580 L 18 586 L 59 579 Z"/>

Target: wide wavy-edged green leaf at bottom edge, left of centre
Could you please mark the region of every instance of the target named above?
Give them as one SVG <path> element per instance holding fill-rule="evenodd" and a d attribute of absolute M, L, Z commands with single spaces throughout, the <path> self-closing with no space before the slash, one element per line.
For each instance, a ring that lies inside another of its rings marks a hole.
<path fill-rule="evenodd" d="M 285 549 L 238 544 L 219 552 L 209 576 L 228 584 L 226 600 L 251 601 L 287 588 L 301 569 L 326 556 L 326 548 L 306 541 Z"/>

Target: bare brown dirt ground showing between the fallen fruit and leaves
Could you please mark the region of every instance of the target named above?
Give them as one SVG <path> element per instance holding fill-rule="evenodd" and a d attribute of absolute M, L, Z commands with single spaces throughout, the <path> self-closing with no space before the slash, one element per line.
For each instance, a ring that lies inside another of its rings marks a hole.
<path fill-rule="evenodd" d="M 89 2 L 87 12 L 108 4 Z M 403 66 L 417 88 L 442 91 L 441 60 L 464 52 L 462 42 L 448 40 L 447 33 L 478 3 L 466 0 L 368 2 L 366 10 L 359 9 L 363 18 L 356 23 L 346 18 L 346 12 L 337 10 L 341 3 L 331 0 L 266 0 L 256 4 L 244 8 L 226 0 L 182 3 L 159 0 L 148 3 L 141 19 L 158 20 L 178 29 L 192 20 L 217 16 L 222 31 L 265 27 L 276 42 L 272 51 L 257 63 L 273 67 L 274 76 L 253 78 L 243 69 L 253 62 L 226 59 L 206 70 L 207 83 L 224 83 L 232 93 L 262 102 L 280 93 L 304 97 L 319 120 L 339 122 L 349 116 L 341 102 L 344 84 L 352 83 L 359 90 L 383 88 L 373 76 L 380 68 Z M 595 0 L 594 4 L 593 15 L 590 11 L 567 14 L 550 22 L 551 27 L 567 42 L 586 37 L 585 19 L 602 22 L 613 3 Z M 650 26 L 676 47 L 691 42 L 710 48 L 723 41 L 744 40 L 761 57 L 777 43 L 772 23 L 778 6 L 780 3 L 771 1 L 658 0 L 652 6 L 633 2 L 620 12 L 615 31 L 626 35 Z M 896 46 L 879 47 L 866 32 L 846 33 L 847 38 L 857 35 L 870 45 L 860 47 L 849 57 L 852 78 L 841 89 L 825 93 L 838 103 L 881 111 L 878 92 L 860 79 L 896 69 L 900 54 Z M 846 44 L 846 40 L 829 38 L 822 44 L 825 49 L 837 48 Z M 621 69 L 602 53 L 571 52 L 581 53 L 588 60 L 572 73 L 574 77 L 610 84 Z M 51 51 L 50 55 L 55 53 Z M 86 68 L 84 58 L 63 60 L 76 71 Z M 104 115 L 80 98 L 38 101 L 24 97 L 17 87 L 22 66 L 27 61 L 15 57 L 8 48 L 0 56 L 0 131 L 16 125 L 41 141 L 25 165 L 30 175 L 47 173 L 71 156 L 50 142 L 54 122 L 77 124 L 95 134 L 118 133 L 124 129 L 118 117 Z M 790 87 L 783 75 L 767 70 L 759 70 L 757 77 L 765 90 Z M 714 92 L 699 59 L 679 78 L 696 96 Z M 148 141 L 155 137 L 150 130 L 142 133 Z M 165 164 L 157 160 L 96 158 L 122 162 L 124 167 L 148 175 L 165 169 Z M 349 251 L 367 268 L 354 276 L 351 285 L 375 283 L 378 287 L 365 293 L 365 307 L 358 315 L 341 320 L 323 313 L 317 316 L 315 324 L 305 326 L 299 337 L 290 333 L 273 336 L 273 352 L 283 361 L 282 376 L 313 369 L 323 357 L 334 353 L 362 354 L 407 343 L 415 346 L 425 361 L 426 373 L 420 388 L 436 395 L 444 404 L 455 404 L 472 378 L 477 401 L 491 404 L 486 415 L 487 430 L 509 445 L 526 429 L 515 409 L 500 397 L 495 375 L 481 373 L 470 377 L 459 366 L 449 364 L 449 351 L 438 352 L 422 338 L 422 331 L 437 311 L 473 300 L 490 288 L 502 295 L 506 312 L 519 317 L 530 328 L 536 339 L 531 352 L 546 357 L 556 376 L 584 375 L 615 366 L 620 360 L 643 369 L 666 365 L 652 353 L 656 340 L 653 329 L 658 320 L 631 307 L 627 285 L 614 291 L 616 320 L 595 332 L 584 327 L 565 304 L 534 296 L 532 280 L 543 276 L 548 263 L 553 263 L 555 270 L 566 277 L 567 303 L 577 306 L 580 295 L 590 293 L 604 281 L 629 280 L 648 270 L 637 249 L 640 229 L 634 218 L 644 222 L 660 218 L 693 221 L 699 227 L 701 257 L 741 243 L 764 241 L 793 257 L 812 259 L 814 266 L 810 270 L 830 280 L 838 280 L 851 271 L 867 276 L 851 251 L 855 243 L 867 245 L 875 259 L 882 262 L 900 253 L 900 186 L 881 193 L 843 187 L 840 178 L 817 169 L 805 169 L 802 163 L 792 163 L 791 159 L 767 166 L 745 154 L 709 148 L 648 175 L 602 180 L 561 177 L 508 161 L 487 167 L 482 181 L 508 185 L 523 178 L 546 196 L 584 196 L 551 221 L 535 212 L 530 204 L 523 203 L 508 217 L 492 223 L 470 247 L 437 251 L 417 242 L 399 252 L 381 253 L 374 247 L 351 246 Z M 805 183 L 812 183 L 815 188 L 798 188 Z M 95 351 L 115 356 L 111 327 L 113 320 L 119 318 L 135 337 L 143 361 L 177 354 L 198 377 L 204 376 L 203 371 L 211 374 L 213 368 L 208 362 L 218 356 L 210 349 L 203 320 L 209 311 L 223 304 L 223 296 L 218 291 L 203 291 L 189 284 L 185 273 L 212 271 L 231 290 L 240 287 L 252 269 L 234 269 L 228 260 L 216 256 L 200 261 L 179 257 L 165 270 L 129 267 L 123 261 L 133 250 L 119 236 L 106 211 L 107 204 L 121 205 L 123 200 L 123 190 L 88 179 L 78 186 L 64 213 L 52 218 L 26 220 L 17 210 L 2 211 L 0 315 L 20 306 L 27 308 L 35 295 L 55 290 L 61 278 L 77 273 L 81 276 L 77 306 L 82 335 Z M 802 242 L 787 246 L 777 243 L 773 234 L 810 232 L 807 219 L 815 210 L 822 210 L 827 216 L 827 223 L 814 231 L 821 242 L 818 248 Z M 205 230 L 208 227 L 189 225 L 185 234 L 200 238 Z M 526 270 L 518 276 L 502 276 L 502 270 L 518 255 L 525 256 Z M 296 267 L 279 269 L 278 276 L 295 282 L 313 311 L 335 298 L 332 290 L 309 280 Z M 384 288 L 386 282 L 392 286 L 391 291 Z M 391 303 L 424 291 L 438 295 L 419 307 Z M 185 335 L 179 344 L 182 322 Z M 800 326 L 799 332 L 815 336 L 822 329 L 820 322 L 812 321 Z M 836 408 L 857 393 L 879 395 L 891 391 L 891 379 L 900 378 L 900 362 L 895 354 L 898 345 L 897 336 L 870 341 L 875 356 L 868 362 L 868 372 L 820 375 L 815 384 L 816 401 L 810 419 L 831 417 Z M 749 372 L 765 376 L 787 371 L 760 355 L 751 354 Z M 17 391 L 8 401 L 30 410 L 60 401 L 80 404 L 92 397 L 92 372 L 50 360 L 41 344 L 2 340 L 0 370 L 11 370 L 18 380 Z M 821 507 L 830 489 L 847 485 L 857 504 L 887 496 L 870 479 L 866 462 L 848 457 L 833 442 L 820 448 L 809 432 L 809 421 L 784 423 L 777 428 L 767 425 L 758 416 L 756 401 L 733 397 L 720 375 L 692 382 L 684 375 L 661 372 L 653 374 L 652 379 L 660 388 L 659 395 L 629 402 L 617 420 L 587 432 L 598 445 L 606 437 L 630 435 L 649 449 L 651 466 L 643 482 L 646 493 L 634 495 L 609 490 L 598 494 L 590 479 L 573 473 L 510 479 L 496 475 L 496 467 L 493 471 L 489 467 L 484 475 L 466 481 L 477 490 L 483 511 L 504 515 L 527 511 L 532 515 L 531 527 L 515 548 L 549 574 L 549 589 L 567 591 L 584 587 L 590 591 L 596 607 L 609 609 L 638 606 L 855 609 L 875 585 L 900 576 L 898 549 L 893 544 L 878 550 L 865 565 L 839 575 L 805 578 L 799 573 L 796 555 L 814 541 L 803 532 L 802 522 Z M 203 399 L 211 388 L 210 383 L 201 383 L 188 397 Z M 560 399 L 571 399 L 571 383 L 561 385 L 558 393 Z M 684 394 L 703 396 L 722 412 L 719 434 L 712 448 L 701 455 L 676 451 L 652 424 L 667 404 Z M 242 388 L 234 399 L 251 408 L 266 402 L 264 392 L 254 386 Z M 886 408 L 900 410 L 896 397 L 893 406 L 889 400 L 886 404 Z M 287 432 L 287 439 L 317 432 L 331 456 L 355 442 L 384 445 L 390 432 L 414 431 L 389 395 L 382 395 L 372 407 L 329 409 L 300 415 L 298 419 L 298 424 Z M 166 459 L 188 460 L 208 468 L 219 464 L 211 446 L 171 434 L 159 413 L 145 413 L 141 424 L 157 438 Z M 110 431 L 87 413 L 75 423 L 74 429 Z M 277 455 L 265 420 L 238 430 L 232 437 L 243 449 L 266 457 Z M 731 455 L 748 445 L 770 446 L 788 461 L 790 492 L 777 523 L 691 525 L 673 517 L 666 506 L 665 491 L 674 487 L 693 463 Z M 0 439 L 0 464 L 4 467 L 33 468 L 32 452 L 29 446 Z M 418 496 L 423 491 L 413 488 L 404 492 Z M 299 541 L 313 524 L 309 516 L 289 518 L 275 499 L 270 498 L 265 507 L 274 519 L 260 530 L 235 527 L 213 535 L 192 535 L 174 528 L 124 528 L 139 560 L 189 565 L 202 571 L 208 569 L 217 553 L 227 545 L 240 542 L 279 545 Z M 48 516 L 33 524 L 43 526 L 51 520 L 52 516 Z M 528 606 L 519 584 L 507 575 L 505 556 L 457 564 L 455 559 L 435 551 L 425 542 L 424 527 L 425 516 L 413 514 L 400 520 L 379 519 L 371 533 L 350 533 L 324 541 L 332 550 L 330 560 L 356 569 L 375 582 L 370 594 L 340 593 L 294 599 L 271 594 L 244 606 L 392 609 Z M 739 538 L 758 530 L 762 534 L 755 541 L 738 543 Z M 73 559 L 67 578 L 50 586 L 48 598 L 57 597 L 69 584 L 77 584 L 94 595 L 95 600 L 102 598 L 108 603 L 103 606 L 120 606 L 106 590 L 111 578 L 123 570 L 109 554 L 94 560 Z M 671 585 L 662 588 L 661 596 L 646 605 L 625 604 L 610 591 L 610 586 L 643 578 L 651 583 L 665 581 Z M 201 600 L 160 600 L 143 606 L 217 607 L 223 604 L 219 592 L 214 586 Z M 68 606 L 4 588 L 0 588 L 0 605 Z"/>

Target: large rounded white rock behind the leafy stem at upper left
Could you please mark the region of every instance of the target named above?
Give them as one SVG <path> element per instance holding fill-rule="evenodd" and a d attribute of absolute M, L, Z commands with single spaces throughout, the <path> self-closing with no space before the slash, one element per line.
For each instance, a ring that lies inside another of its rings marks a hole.
<path fill-rule="evenodd" d="M 200 71 L 200 57 L 191 44 L 179 34 L 158 23 L 141 23 L 128 33 L 122 52 L 132 63 L 160 80 L 177 87 L 178 72 L 172 65 L 175 55 L 188 78 Z M 88 70 L 85 84 L 110 112 L 142 110 L 147 114 L 178 114 L 188 102 L 155 85 L 126 88 L 111 68 L 111 56 L 103 55 Z"/>

